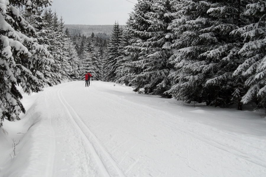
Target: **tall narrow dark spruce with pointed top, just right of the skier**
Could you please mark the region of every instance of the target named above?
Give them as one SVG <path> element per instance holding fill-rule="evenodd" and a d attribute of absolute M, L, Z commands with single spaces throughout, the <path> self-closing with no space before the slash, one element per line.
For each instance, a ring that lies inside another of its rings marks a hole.
<path fill-rule="evenodd" d="M 122 30 L 118 22 L 113 25 L 113 32 L 108 42 L 108 81 L 116 80 L 117 58 L 119 57 L 119 46 L 121 43 Z"/>

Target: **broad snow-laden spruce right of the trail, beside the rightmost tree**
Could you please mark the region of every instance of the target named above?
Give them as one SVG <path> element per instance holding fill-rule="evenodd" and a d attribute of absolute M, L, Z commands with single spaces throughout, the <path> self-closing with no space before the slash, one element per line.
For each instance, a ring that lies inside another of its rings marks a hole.
<path fill-rule="evenodd" d="M 215 106 L 226 106 L 233 96 L 241 96 L 236 92 L 242 90 L 243 78 L 232 78 L 232 74 L 244 58 L 237 53 L 241 41 L 230 33 L 245 24 L 241 12 L 246 4 L 177 1 L 177 19 L 169 26 L 177 37 L 171 57 L 177 71 L 170 74 L 176 84 L 167 93 Z"/>

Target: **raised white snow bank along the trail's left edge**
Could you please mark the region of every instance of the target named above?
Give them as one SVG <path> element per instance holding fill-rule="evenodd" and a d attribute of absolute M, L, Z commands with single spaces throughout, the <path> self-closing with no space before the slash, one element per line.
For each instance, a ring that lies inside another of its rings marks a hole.
<path fill-rule="evenodd" d="M 45 109 L 45 101 L 42 94 L 24 96 L 22 100 L 27 112 L 21 115 L 21 120 L 16 122 L 3 122 L 3 128 L 8 135 L 0 133 L 0 176 L 46 176 L 49 151 L 51 149 L 52 133 L 50 120 Z M 38 102 L 35 102 L 38 99 Z M 14 155 L 13 140 L 17 144 Z M 4 145 L 4 146 L 2 146 Z M 47 171 L 47 173 L 50 170 Z"/>

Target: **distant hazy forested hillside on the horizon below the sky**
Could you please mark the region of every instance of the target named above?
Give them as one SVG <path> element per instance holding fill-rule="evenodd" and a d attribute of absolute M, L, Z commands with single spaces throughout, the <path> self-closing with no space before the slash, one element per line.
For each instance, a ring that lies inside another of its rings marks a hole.
<path fill-rule="evenodd" d="M 120 25 L 124 28 L 125 25 Z M 70 35 L 84 34 L 86 37 L 94 34 L 105 33 L 107 36 L 111 35 L 113 25 L 82 25 L 82 24 L 65 24 L 64 30 L 68 28 Z"/>

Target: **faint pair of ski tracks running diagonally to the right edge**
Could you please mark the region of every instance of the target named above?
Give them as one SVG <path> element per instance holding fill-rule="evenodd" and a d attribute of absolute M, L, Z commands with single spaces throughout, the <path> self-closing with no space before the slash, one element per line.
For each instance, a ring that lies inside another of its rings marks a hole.
<path fill-rule="evenodd" d="M 95 88 L 94 88 L 94 90 L 97 91 L 97 92 L 99 92 L 99 91 L 96 90 Z M 94 92 L 94 94 L 97 94 L 97 93 Z M 175 125 L 176 128 L 175 128 L 175 127 L 172 127 L 172 126 L 169 125 L 169 124 L 170 124 L 169 122 L 167 122 L 167 121 L 165 121 L 165 120 L 162 120 L 162 119 L 158 119 L 157 117 L 155 117 L 155 116 L 152 115 L 152 114 L 148 114 L 148 113 L 146 113 L 146 112 L 144 112 L 144 111 L 140 111 L 140 110 L 135 109 L 135 108 L 132 108 L 132 107 L 127 107 L 127 106 L 125 106 L 124 104 L 121 104 L 121 103 L 119 103 L 119 102 L 116 102 L 116 101 L 114 101 L 114 99 L 112 99 L 112 100 L 111 100 L 111 99 L 108 99 L 108 98 L 102 96 L 101 94 L 97 94 L 97 95 L 100 96 L 100 97 L 101 97 L 102 99 L 104 99 L 104 100 L 108 100 L 108 101 L 111 101 L 112 103 L 115 102 L 116 104 L 120 104 L 120 105 L 126 107 L 126 109 L 131 109 L 131 110 L 133 110 L 133 111 L 141 112 L 141 113 L 143 113 L 143 114 L 146 114 L 146 115 L 149 115 L 149 116 L 151 116 L 151 117 L 154 117 L 154 118 L 157 119 L 157 121 L 159 121 L 161 124 L 164 124 L 164 125 L 166 125 L 166 126 L 169 127 L 169 128 L 172 128 L 172 129 L 174 129 L 174 130 L 177 130 L 177 131 L 179 131 L 179 132 L 181 132 L 181 133 L 185 133 L 186 135 L 188 135 L 188 136 L 190 136 L 190 137 L 192 137 L 192 138 L 194 138 L 194 139 L 197 139 L 197 140 L 200 140 L 200 141 L 202 141 L 202 142 L 204 142 L 204 143 L 207 143 L 207 144 L 209 144 L 209 145 L 211 145 L 211 146 L 213 146 L 213 147 L 215 147 L 215 148 L 218 148 L 218 149 L 223 150 L 223 151 L 225 151 L 225 152 L 227 152 L 227 153 L 230 153 L 231 155 L 235 155 L 236 157 L 239 157 L 239 158 L 241 158 L 241 159 L 243 159 L 243 160 L 246 160 L 246 161 L 248 161 L 248 162 L 250 162 L 250 163 L 254 163 L 254 164 L 259 165 L 259 166 L 261 166 L 261 167 L 263 167 L 263 168 L 266 168 L 266 162 L 265 162 L 265 161 L 262 161 L 261 159 L 259 159 L 259 158 L 257 158 L 257 157 L 252 157 L 252 156 L 246 155 L 246 154 L 240 152 L 239 150 L 236 150 L 235 148 L 232 148 L 232 147 L 227 146 L 227 145 L 220 144 L 219 142 L 216 142 L 216 141 L 214 141 L 214 140 L 210 140 L 210 139 L 208 139 L 208 138 L 206 138 L 206 137 L 203 137 L 202 135 L 198 135 L 198 134 L 196 134 L 196 133 L 194 133 L 194 132 L 191 132 L 191 131 L 189 131 L 189 130 L 185 130 L 185 129 L 183 129 L 183 128 L 181 128 L 181 127 L 178 127 L 178 126 L 176 126 L 176 125 Z M 134 104 L 134 103 L 132 102 L 132 104 Z M 173 115 L 173 116 L 174 116 L 174 115 Z M 178 117 L 178 116 L 175 116 L 175 117 Z M 150 117 L 149 117 L 149 118 L 150 118 Z M 178 117 L 178 118 L 180 118 L 180 117 Z M 151 118 L 150 118 L 150 119 L 151 119 Z M 165 122 L 165 123 L 163 123 L 163 122 Z"/>

